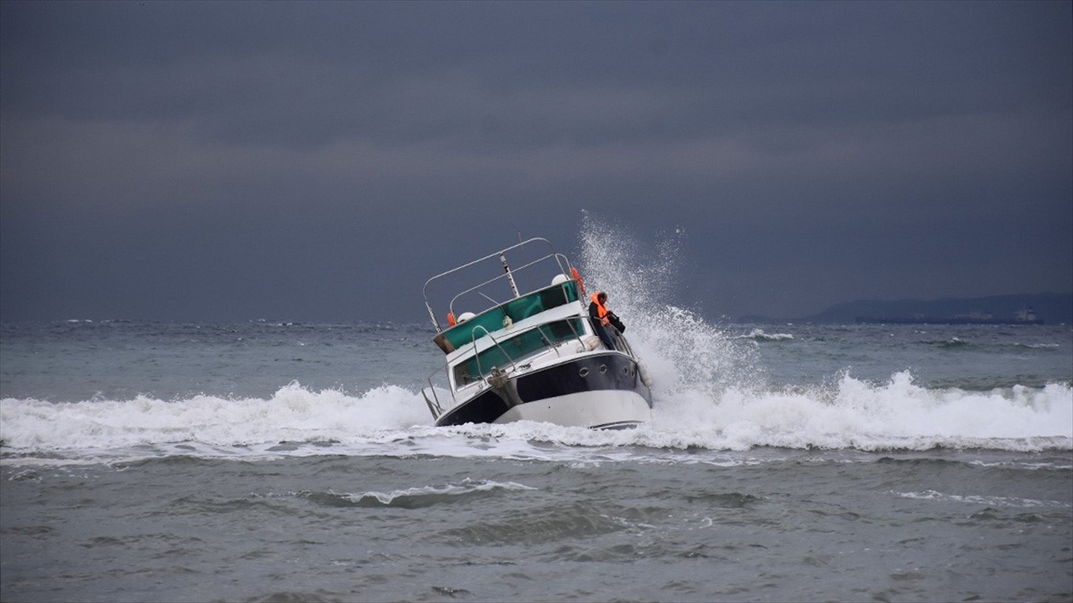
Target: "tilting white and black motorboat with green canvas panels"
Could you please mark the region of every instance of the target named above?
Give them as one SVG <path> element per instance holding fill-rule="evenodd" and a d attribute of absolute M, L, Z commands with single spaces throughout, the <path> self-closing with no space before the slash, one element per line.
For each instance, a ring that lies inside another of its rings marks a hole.
<path fill-rule="evenodd" d="M 422 387 L 438 427 L 540 421 L 619 429 L 651 418 L 641 358 L 618 328 L 607 329 L 614 349 L 601 341 L 577 268 L 547 239 L 436 275 L 424 296 L 444 354 Z"/>

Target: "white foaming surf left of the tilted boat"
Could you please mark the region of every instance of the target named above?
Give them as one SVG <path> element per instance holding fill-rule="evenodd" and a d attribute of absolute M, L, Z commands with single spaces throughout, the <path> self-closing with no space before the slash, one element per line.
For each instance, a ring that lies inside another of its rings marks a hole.
<path fill-rule="evenodd" d="M 0 439 L 11 450 L 107 450 L 196 442 L 244 446 L 264 442 L 329 442 L 429 423 L 416 396 L 381 386 L 359 397 L 338 391 L 312 392 L 298 383 L 268 399 L 194 396 L 164 401 L 133 400 L 53 403 L 0 400 Z"/>

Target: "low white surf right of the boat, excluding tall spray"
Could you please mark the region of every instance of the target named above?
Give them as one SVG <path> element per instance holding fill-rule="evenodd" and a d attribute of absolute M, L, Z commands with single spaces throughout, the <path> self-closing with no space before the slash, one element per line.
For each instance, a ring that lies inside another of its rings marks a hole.
<path fill-rule="evenodd" d="M 731 388 L 715 400 L 687 394 L 660 410 L 655 425 L 681 443 L 732 450 L 1069 450 L 1073 443 L 1073 391 L 1063 384 L 964 392 L 920 387 L 908 372 L 883 384 L 843 374 L 811 391 Z"/>

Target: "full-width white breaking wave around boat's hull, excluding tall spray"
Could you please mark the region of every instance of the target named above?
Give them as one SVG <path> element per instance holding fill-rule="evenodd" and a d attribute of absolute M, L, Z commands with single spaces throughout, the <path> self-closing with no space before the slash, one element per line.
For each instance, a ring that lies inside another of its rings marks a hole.
<path fill-rule="evenodd" d="M 599 431 L 544 423 L 437 428 L 420 395 L 401 387 L 348 396 L 292 383 L 268 399 L 8 398 L 0 400 L 0 462 L 9 466 L 178 455 L 569 459 L 575 448 L 600 448 L 576 454 L 597 461 L 636 458 L 638 448 L 1070 451 L 1073 389 L 1049 384 L 966 392 L 922 387 L 908 372 L 878 384 L 843 374 L 811 389 L 657 392 L 649 425 Z"/>

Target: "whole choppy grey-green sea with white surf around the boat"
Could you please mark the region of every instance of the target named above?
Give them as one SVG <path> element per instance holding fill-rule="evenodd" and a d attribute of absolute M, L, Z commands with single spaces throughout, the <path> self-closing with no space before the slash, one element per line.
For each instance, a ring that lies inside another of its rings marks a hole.
<path fill-rule="evenodd" d="M 1073 599 L 1073 327 L 707 320 L 597 260 L 636 429 L 435 427 L 426 323 L 0 325 L 0 600 Z"/>

